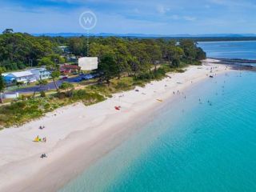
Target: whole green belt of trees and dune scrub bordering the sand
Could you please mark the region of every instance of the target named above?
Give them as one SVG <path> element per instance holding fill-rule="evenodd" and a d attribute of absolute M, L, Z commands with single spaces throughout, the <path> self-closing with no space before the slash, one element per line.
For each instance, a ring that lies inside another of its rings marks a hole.
<path fill-rule="evenodd" d="M 5 89 L 2 73 L 30 66 L 46 66 L 52 80 L 59 77 L 59 64 L 69 58 L 98 57 L 98 82 L 74 89 L 74 84 L 65 82 L 56 91 L 22 95 L 10 105 L 0 106 L 0 127 L 18 126 L 47 112 L 74 102 L 91 105 L 102 102 L 112 94 L 145 86 L 152 80 L 161 80 L 171 71 L 184 72 L 187 65 L 201 65 L 206 53 L 190 39 L 175 40 L 137 38 L 90 37 L 90 52 L 86 37 L 34 37 L 30 34 L 5 30 L 0 34 L 0 92 Z M 68 53 L 60 46 L 69 47 Z M 45 82 L 38 82 L 39 85 Z"/>

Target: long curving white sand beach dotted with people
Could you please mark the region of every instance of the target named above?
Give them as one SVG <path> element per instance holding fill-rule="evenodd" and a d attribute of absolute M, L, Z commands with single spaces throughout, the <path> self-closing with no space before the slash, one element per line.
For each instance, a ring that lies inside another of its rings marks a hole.
<path fill-rule="evenodd" d="M 182 74 L 114 94 L 93 106 L 76 103 L 18 128 L 0 131 L 0 191 L 56 191 L 130 134 L 133 123 L 164 105 L 173 92 L 230 69 L 206 59 Z M 212 73 L 210 73 L 211 68 Z M 121 106 L 115 110 L 114 106 Z M 43 130 L 39 126 L 45 126 Z M 33 142 L 36 136 L 46 142 Z M 47 158 L 40 158 L 46 154 Z"/>

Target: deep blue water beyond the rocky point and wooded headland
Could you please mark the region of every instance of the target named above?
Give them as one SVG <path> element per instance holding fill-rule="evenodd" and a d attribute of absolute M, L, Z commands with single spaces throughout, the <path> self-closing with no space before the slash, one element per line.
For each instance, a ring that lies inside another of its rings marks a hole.
<path fill-rule="evenodd" d="M 198 42 L 198 46 L 206 51 L 208 58 L 256 59 L 256 41 Z"/>

